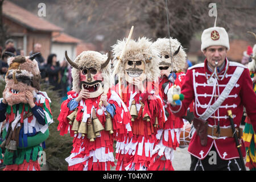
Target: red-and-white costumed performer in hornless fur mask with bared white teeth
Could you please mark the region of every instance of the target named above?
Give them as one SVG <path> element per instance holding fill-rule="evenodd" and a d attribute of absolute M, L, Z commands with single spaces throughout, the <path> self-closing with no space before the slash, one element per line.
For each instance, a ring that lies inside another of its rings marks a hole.
<path fill-rule="evenodd" d="M 125 40 L 113 46 L 114 57 L 118 59 L 124 46 Z M 159 77 L 158 55 L 147 38 L 130 40 L 117 69 L 117 75 L 123 79 L 115 88 L 129 108 L 133 130 L 133 137 L 127 136 L 124 142 L 117 142 L 117 170 L 148 169 L 156 128 L 163 127 L 166 120 L 155 83 Z"/>

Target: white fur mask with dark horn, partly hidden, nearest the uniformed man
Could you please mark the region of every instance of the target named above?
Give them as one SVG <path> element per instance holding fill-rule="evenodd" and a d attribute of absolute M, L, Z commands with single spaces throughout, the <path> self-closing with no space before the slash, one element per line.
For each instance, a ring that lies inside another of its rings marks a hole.
<path fill-rule="evenodd" d="M 158 38 L 152 45 L 155 49 L 160 51 L 160 71 L 167 69 L 171 73 L 172 68 L 173 72 L 179 72 L 184 69 L 187 55 L 177 39 Z"/>

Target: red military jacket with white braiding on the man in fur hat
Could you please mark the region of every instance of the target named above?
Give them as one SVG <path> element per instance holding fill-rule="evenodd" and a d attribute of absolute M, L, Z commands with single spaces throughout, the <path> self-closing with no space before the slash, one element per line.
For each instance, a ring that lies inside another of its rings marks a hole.
<path fill-rule="evenodd" d="M 181 117 L 187 111 L 189 104 L 194 101 L 195 117 L 200 117 L 207 110 L 208 106 L 213 105 L 220 96 L 237 67 L 243 68 L 242 74 L 228 97 L 225 98 L 224 102 L 222 102 L 214 114 L 207 119 L 208 125 L 209 127 L 213 125 L 217 126 L 218 122 L 220 122 L 220 127 L 231 127 L 227 111 L 232 110 L 234 125 L 235 127 L 239 127 L 243 114 L 243 106 L 245 106 L 247 115 L 251 119 L 255 130 L 256 94 L 252 89 L 253 83 L 251 82 L 249 69 L 242 64 L 231 62 L 227 59 L 225 60 L 224 70 L 217 75 L 218 78 L 213 76 L 211 80 L 207 79 L 212 74 L 208 69 L 207 60 L 204 63 L 189 68 L 181 88 L 181 93 L 184 94 L 184 100 L 181 106 L 171 106 L 172 111 Z M 245 156 L 245 147 L 241 139 L 240 142 L 242 144 L 242 154 Z M 213 139 L 211 135 L 208 135 L 207 146 L 201 146 L 200 138 L 196 132 L 193 134 L 189 143 L 188 152 L 199 159 L 204 159 L 213 144 L 221 159 L 229 160 L 239 158 L 234 138 L 219 137 Z"/>

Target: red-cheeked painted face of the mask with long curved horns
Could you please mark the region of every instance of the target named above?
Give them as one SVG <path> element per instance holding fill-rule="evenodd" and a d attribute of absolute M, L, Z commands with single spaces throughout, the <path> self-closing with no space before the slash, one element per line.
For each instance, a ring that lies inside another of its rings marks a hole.
<path fill-rule="evenodd" d="M 81 89 L 90 92 L 90 98 L 98 97 L 103 92 L 103 78 L 96 68 L 84 68 L 80 72 Z"/>

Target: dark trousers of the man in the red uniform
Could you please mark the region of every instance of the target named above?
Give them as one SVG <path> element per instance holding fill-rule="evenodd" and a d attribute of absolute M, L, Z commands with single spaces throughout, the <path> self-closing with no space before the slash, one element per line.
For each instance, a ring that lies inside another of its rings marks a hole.
<path fill-rule="evenodd" d="M 231 159 L 231 160 L 222 160 L 220 156 L 218 156 L 218 152 L 216 148 L 212 147 L 212 149 L 208 155 L 200 160 L 195 156 L 191 155 L 191 171 L 240 171 L 242 170 L 242 164 L 240 158 Z M 210 155 L 209 155 L 210 154 Z M 213 156 L 213 154 L 216 154 Z M 213 158 L 216 156 L 216 159 Z"/>

